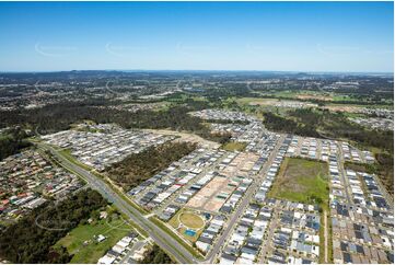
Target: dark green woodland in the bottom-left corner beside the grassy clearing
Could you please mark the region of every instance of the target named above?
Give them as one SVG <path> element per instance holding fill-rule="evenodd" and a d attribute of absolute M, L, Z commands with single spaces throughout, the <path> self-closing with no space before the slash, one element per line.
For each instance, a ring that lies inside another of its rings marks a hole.
<path fill-rule="evenodd" d="M 46 203 L 0 232 L 0 256 L 11 263 L 68 263 L 65 247 L 54 249 L 58 240 L 93 210 L 107 201 L 95 191 L 79 192 L 62 201 Z"/>

